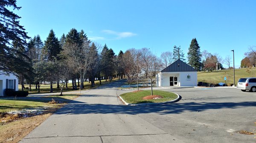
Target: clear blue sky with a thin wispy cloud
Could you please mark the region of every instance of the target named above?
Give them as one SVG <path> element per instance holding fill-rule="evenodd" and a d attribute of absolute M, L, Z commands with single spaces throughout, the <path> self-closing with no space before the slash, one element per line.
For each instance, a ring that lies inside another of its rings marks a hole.
<path fill-rule="evenodd" d="M 39 34 L 44 41 L 50 29 L 58 38 L 71 28 L 83 29 L 116 54 L 146 47 L 160 56 L 177 45 L 186 55 L 196 38 L 201 51 L 223 59 L 233 57 L 234 49 L 239 67 L 256 46 L 255 0 L 18 0 L 17 6 L 31 37 Z"/>

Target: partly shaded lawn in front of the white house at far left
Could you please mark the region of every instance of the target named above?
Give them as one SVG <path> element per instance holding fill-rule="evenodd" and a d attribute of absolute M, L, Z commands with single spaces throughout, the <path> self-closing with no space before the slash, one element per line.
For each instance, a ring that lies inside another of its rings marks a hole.
<path fill-rule="evenodd" d="M 21 109 L 35 109 L 45 107 L 56 107 L 58 104 L 50 104 L 52 99 L 60 103 L 68 103 L 78 95 L 70 94 L 64 96 L 28 96 L 28 97 L 1 97 L 0 98 L 0 112 L 10 112 Z"/>

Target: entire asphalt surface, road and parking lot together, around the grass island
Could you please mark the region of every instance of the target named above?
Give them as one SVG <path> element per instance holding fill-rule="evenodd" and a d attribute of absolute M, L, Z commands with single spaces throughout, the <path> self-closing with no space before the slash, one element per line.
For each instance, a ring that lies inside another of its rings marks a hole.
<path fill-rule="evenodd" d="M 82 91 L 20 143 L 256 143 L 256 93 L 235 88 L 163 89 L 176 103 L 129 107 L 123 81 Z M 254 130 L 254 131 L 253 131 Z"/>

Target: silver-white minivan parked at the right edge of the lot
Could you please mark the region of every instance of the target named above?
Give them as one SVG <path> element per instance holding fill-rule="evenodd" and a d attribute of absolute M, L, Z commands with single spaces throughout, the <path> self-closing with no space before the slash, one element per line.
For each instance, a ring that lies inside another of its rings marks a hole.
<path fill-rule="evenodd" d="M 250 90 L 251 92 L 256 92 L 256 78 L 241 78 L 236 88 L 242 91 Z"/>

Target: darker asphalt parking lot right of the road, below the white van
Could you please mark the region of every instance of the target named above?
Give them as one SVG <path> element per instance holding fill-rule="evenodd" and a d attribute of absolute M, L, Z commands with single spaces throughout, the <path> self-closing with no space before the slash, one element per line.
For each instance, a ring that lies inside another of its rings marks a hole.
<path fill-rule="evenodd" d="M 173 104 L 127 107 L 185 143 L 256 143 L 256 93 L 236 88 L 177 88 Z"/>

